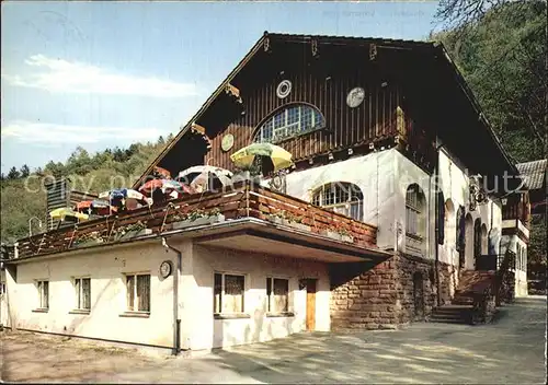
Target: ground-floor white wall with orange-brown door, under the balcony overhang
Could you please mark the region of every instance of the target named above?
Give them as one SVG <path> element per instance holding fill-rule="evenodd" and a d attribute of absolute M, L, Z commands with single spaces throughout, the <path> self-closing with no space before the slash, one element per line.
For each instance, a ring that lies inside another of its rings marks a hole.
<path fill-rule="evenodd" d="M 195 279 L 193 288 L 187 287 L 185 293 L 193 313 L 193 332 L 185 342 L 192 350 L 266 341 L 305 330 L 306 290 L 299 290 L 298 287 L 301 278 L 318 279 L 316 330 L 330 329 L 330 283 L 326 264 L 195 246 L 192 271 Z M 213 285 L 216 271 L 246 276 L 244 313 L 250 318 L 214 319 Z M 289 280 L 289 311 L 295 316 L 266 317 L 266 277 Z"/>

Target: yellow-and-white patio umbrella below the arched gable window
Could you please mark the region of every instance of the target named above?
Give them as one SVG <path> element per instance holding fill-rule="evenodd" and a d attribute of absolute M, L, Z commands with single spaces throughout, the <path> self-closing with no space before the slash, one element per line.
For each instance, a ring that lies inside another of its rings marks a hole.
<path fill-rule="evenodd" d="M 230 160 L 236 166 L 247 168 L 253 164 L 255 156 L 270 159 L 274 171 L 287 168 L 293 165 L 292 153 L 271 143 L 253 143 L 244 147 L 230 155 Z"/>

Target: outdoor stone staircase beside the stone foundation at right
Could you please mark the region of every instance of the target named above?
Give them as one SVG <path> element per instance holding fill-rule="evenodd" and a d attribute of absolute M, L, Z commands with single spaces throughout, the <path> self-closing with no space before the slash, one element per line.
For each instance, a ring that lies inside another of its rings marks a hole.
<path fill-rule="evenodd" d="M 473 293 L 488 285 L 494 285 L 495 271 L 465 270 L 460 273 L 458 289 L 452 303 L 435 307 L 429 322 L 445 324 L 471 324 Z"/>

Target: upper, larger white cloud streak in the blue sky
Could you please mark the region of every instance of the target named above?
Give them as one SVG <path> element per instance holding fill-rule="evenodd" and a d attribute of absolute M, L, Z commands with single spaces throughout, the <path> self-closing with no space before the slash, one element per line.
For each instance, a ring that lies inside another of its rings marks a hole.
<path fill-rule="evenodd" d="M 44 55 L 33 55 L 25 60 L 25 63 L 28 66 L 28 73 L 2 73 L 2 78 L 15 86 L 39 89 L 52 93 L 152 97 L 185 97 L 197 94 L 193 83 L 114 73 L 95 66 L 52 59 Z"/>

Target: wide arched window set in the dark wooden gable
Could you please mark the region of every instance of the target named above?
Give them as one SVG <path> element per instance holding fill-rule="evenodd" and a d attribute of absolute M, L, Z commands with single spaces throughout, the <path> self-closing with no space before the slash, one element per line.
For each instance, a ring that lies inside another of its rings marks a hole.
<path fill-rule="evenodd" d="M 326 120 L 317 108 L 308 104 L 293 104 L 263 121 L 253 141 L 276 143 L 324 126 Z"/>

